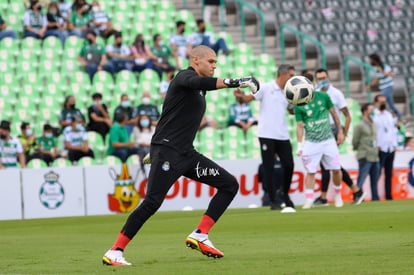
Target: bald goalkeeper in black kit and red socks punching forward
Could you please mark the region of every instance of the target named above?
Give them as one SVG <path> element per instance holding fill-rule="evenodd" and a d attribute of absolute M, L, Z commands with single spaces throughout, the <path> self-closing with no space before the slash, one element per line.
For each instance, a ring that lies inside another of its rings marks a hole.
<path fill-rule="evenodd" d="M 104 264 L 131 265 L 123 257 L 125 247 L 160 208 L 168 190 L 181 176 L 217 189 L 200 223 L 185 240 L 186 245 L 209 257 L 224 256 L 209 240 L 208 232 L 236 196 L 239 185 L 229 172 L 195 151 L 193 140 L 206 109 L 206 91 L 247 87 L 254 93 L 259 83 L 254 77 L 215 78 L 216 63 L 212 49 L 197 46 L 191 50 L 190 67 L 171 81 L 151 142 L 145 200 L 129 215 L 114 245 L 105 253 Z"/>

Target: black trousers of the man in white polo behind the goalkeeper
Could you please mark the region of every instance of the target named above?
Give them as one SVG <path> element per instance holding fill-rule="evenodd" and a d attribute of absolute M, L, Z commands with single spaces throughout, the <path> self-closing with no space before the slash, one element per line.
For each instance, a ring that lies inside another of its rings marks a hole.
<path fill-rule="evenodd" d="M 289 140 L 275 140 L 269 138 L 259 138 L 259 142 L 263 163 L 263 184 L 268 190 L 270 202 L 275 203 L 277 191 L 273 179 L 275 154 L 279 156 L 283 169 L 283 179 L 281 179 L 282 191 L 285 195 L 288 195 L 294 168 L 292 145 Z"/>

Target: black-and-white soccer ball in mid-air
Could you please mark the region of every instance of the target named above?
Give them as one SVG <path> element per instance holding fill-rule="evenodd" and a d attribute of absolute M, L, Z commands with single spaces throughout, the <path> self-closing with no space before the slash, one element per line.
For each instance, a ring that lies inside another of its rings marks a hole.
<path fill-rule="evenodd" d="M 313 89 L 313 84 L 309 79 L 297 75 L 289 78 L 283 92 L 290 104 L 301 106 L 312 101 Z"/>

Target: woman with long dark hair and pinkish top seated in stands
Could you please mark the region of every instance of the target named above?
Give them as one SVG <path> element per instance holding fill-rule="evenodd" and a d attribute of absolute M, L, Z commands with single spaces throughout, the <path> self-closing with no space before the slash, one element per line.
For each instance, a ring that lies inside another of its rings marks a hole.
<path fill-rule="evenodd" d="M 135 72 L 142 72 L 145 69 L 154 69 L 154 54 L 149 47 L 145 45 L 144 36 L 137 34 L 134 43 L 131 46 L 131 52 L 134 55 L 135 65 L 133 70 Z"/>

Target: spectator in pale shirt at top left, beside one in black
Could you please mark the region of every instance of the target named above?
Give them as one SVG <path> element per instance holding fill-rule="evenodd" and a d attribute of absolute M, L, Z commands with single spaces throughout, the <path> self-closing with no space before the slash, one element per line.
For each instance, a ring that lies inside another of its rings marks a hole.
<path fill-rule="evenodd" d="M 40 1 L 30 2 L 30 7 L 24 14 L 23 38 L 34 37 L 43 39 L 47 29 L 46 17 L 42 14 Z"/>

